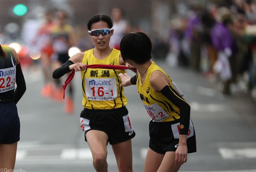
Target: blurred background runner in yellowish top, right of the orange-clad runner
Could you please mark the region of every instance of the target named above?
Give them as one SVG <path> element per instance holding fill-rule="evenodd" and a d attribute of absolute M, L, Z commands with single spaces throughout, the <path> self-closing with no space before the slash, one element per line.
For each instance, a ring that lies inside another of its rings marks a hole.
<path fill-rule="evenodd" d="M 52 46 L 54 54 L 52 56 L 53 69 L 57 69 L 64 64 L 70 57 L 68 56 L 68 50 L 76 44 L 73 27 L 67 24 L 68 15 L 66 11 L 59 10 L 56 12 L 57 24 L 52 28 Z M 55 100 L 63 100 L 63 89 L 60 79 L 55 79 L 56 93 L 54 95 Z M 69 96 L 65 102 L 65 112 L 73 113 L 74 105 L 74 86 L 72 82 L 69 84 L 68 89 Z"/>

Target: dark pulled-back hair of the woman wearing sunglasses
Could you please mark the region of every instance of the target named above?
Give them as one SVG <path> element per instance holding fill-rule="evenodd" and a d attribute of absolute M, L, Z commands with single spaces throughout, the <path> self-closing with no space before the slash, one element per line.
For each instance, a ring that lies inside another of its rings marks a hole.
<path fill-rule="evenodd" d="M 110 16 L 105 15 L 105 14 L 96 14 L 94 16 L 92 16 L 89 21 L 87 22 L 87 28 L 88 30 L 91 30 L 92 28 L 92 24 L 93 23 L 97 23 L 99 21 L 104 21 L 108 24 L 109 28 L 113 27 L 113 20 L 111 19 Z"/>

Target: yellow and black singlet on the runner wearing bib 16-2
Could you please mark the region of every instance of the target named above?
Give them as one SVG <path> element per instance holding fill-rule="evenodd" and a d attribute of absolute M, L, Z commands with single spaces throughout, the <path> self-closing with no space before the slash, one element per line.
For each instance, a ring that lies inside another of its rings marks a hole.
<path fill-rule="evenodd" d="M 136 85 L 140 99 L 152 120 L 156 122 L 167 122 L 180 119 L 180 108 L 175 106 L 162 93 L 155 92 L 149 83 L 152 72 L 156 70 L 163 72 L 172 86 L 171 78 L 152 61 L 152 64 L 148 67 L 146 79 L 143 84 L 141 84 L 141 78 L 138 75 Z M 177 95 L 177 97 L 179 96 Z"/>

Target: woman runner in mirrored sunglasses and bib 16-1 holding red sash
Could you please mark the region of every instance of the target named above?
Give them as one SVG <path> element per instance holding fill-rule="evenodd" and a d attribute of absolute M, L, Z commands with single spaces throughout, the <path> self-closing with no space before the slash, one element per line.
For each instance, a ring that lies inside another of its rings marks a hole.
<path fill-rule="evenodd" d="M 123 70 L 91 69 L 86 64 L 125 65 L 120 51 L 109 47 L 113 21 L 108 15 L 97 14 L 87 22 L 95 48 L 72 56 L 53 71 L 53 78 L 81 71 L 84 110 L 80 125 L 84 131 L 96 171 L 108 171 L 107 145 L 112 145 L 119 171 L 132 171 L 132 138 L 135 136 L 124 89 L 119 88 Z M 127 68 L 131 69 L 132 66 Z"/>

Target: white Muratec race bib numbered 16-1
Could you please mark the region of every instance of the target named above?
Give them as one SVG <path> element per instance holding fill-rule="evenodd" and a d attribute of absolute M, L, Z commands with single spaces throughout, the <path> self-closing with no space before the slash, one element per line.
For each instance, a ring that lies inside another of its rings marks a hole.
<path fill-rule="evenodd" d="M 88 100 L 110 101 L 117 98 L 116 78 L 85 78 Z"/>

